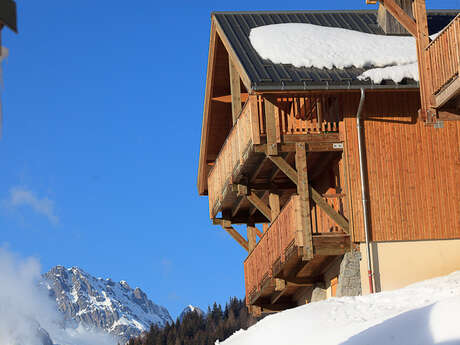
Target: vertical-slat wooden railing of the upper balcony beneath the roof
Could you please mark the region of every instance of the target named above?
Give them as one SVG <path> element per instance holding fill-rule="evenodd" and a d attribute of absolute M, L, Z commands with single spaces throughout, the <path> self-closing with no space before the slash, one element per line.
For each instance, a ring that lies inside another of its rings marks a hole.
<path fill-rule="evenodd" d="M 225 140 L 208 175 L 210 217 L 222 204 L 225 190 L 252 152 L 253 144 L 266 143 L 265 100 L 250 96 Z M 273 97 L 276 140 L 296 135 L 338 132 L 339 112 L 335 98 L 326 96 Z M 295 139 L 293 139 L 295 140 Z"/>

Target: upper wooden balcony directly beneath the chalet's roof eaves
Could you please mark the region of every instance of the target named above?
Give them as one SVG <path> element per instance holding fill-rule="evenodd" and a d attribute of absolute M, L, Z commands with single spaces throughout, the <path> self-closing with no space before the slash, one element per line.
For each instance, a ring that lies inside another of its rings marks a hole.
<path fill-rule="evenodd" d="M 249 96 L 208 175 L 210 217 L 233 207 L 238 198 L 233 186 L 260 173 L 267 150 L 282 155 L 305 142 L 312 152 L 341 151 L 336 106 L 325 96 Z M 255 217 L 255 223 L 266 221 Z"/>

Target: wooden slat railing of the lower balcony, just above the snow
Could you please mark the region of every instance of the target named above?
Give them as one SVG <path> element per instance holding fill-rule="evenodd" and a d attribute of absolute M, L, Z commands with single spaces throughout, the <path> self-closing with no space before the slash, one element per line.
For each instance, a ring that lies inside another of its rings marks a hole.
<path fill-rule="evenodd" d="M 342 213 L 343 195 L 326 195 L 325 200 Z M 283 265 L 295 247 L 303 246 L 301 209 L 298 195 L 293 195 L 263 234 L 257 246 L 244 262 L 246 298 L 260 291 L 265 281 L 273 277 L 274 265 Z M 312 235 L 342 233 L 337 224 L 316 204 L 311 212 Z"/>

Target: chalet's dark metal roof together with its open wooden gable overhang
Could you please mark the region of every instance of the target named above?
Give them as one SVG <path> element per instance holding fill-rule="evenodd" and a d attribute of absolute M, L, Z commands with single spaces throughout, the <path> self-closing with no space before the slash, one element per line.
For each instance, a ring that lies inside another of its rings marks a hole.
<path fill-rule="evenodd" d="M 440 31 L 457 13 L 429 12 L 430 34 Z M 208 173 L 250 94 L 314 90 L 346 92 L 361 87 L 418 89 L 418 83 L 412 79 L 400 83 L 384 80 L 380 84 L 358 79 L 367 68 L 298 68 L 262 59 L 249 41 L 251 29 L 282 23 L 307 23 L 385 35 L 378 24 L 378 12 L 374 10 L 213 13 L 198 168 L 200 195 L 207 194 Z M 238 98 L 240 102 L 235 101 Z"/>

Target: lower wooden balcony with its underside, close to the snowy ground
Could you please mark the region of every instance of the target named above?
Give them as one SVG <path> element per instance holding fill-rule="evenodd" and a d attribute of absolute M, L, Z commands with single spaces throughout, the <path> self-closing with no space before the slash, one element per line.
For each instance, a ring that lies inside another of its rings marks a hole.
<path fill-rule="evenodd" d="M 342 212 L 342 197 L 327 198 L 337 212 Z M 266 311 L 294 307 L 293 295 L 299 288 L 324 281 L 322 274 L 337 255 L 350 249 L 350 236 L 334 223 L 316 204 L 312 205 L 311 232 L 313 258 L 305 260 L 301 202 L 291 197 L 279 216 L 263 234 L 244 262 L 246 302 Z"/>

